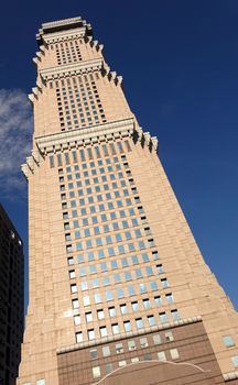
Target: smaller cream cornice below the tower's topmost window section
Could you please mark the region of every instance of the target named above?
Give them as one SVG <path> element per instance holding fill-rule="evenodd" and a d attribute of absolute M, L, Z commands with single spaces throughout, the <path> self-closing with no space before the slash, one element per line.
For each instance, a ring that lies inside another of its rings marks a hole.
<path fill-rule="evenodd" d="M 78 75 L 86 72 L 100 70 L 102 68 L 102 58 L 97 58 L 41 69 L 39 74 L 44 80 L 52 80 L 67 75 Z"/>

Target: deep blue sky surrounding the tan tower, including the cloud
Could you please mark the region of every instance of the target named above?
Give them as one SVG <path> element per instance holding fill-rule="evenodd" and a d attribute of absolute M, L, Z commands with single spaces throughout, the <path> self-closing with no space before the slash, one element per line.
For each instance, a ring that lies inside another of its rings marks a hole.
<path fill-rule="evenodd" d="M 42 22 L 82 15 L 123 76 L 132 111 L 159 136 L 166 174 L 203 255 L 238 308 L 237 0 L 8 1 L 1 6 L 0 200 L 28 252 L 26 185 Z M 18 113 L 15 113 L 18 111 Z"/>

